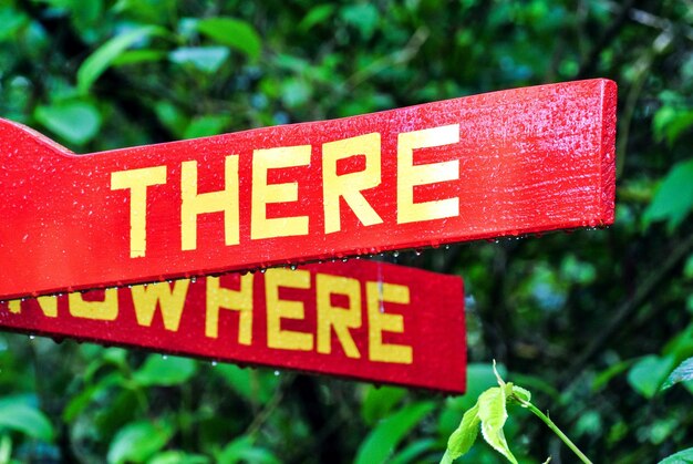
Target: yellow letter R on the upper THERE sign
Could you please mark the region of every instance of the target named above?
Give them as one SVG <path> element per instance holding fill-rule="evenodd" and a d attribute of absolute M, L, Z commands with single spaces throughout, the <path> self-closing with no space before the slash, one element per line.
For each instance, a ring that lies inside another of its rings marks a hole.
<path fill-rule="evenodd" d="M 365 156 L 363 171 L 337 175 L 338 161 L 361 154 Z M 328 142 L 322 145 L 322 195 L 325 234 L 341 229 L 340 197 L 344 198 L 344 202 L 364 226 L 383 221 L 361 193 L 380 185 L 380 134 L 377 132 Z"/>

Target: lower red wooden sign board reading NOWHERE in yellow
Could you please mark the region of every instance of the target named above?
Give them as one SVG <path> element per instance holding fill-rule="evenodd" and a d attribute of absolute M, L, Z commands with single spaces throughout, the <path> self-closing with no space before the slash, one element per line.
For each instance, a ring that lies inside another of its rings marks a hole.
<path fill-rule="evenodd" d="M 465 391 L 462 279 L 377 261 L 354 259 L 4 301 L 0 327 Z"/>

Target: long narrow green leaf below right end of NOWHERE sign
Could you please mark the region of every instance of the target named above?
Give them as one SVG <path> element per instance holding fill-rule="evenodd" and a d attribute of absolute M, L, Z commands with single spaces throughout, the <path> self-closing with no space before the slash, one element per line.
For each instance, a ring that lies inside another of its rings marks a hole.
<path fill-rule="evenodd" d="M 392 454 L 400 441 L 428 414 L 435 403 L 407 404 L 387 419 L 382 420 L 359 446 L 356 464 L 382 463 Z"/>

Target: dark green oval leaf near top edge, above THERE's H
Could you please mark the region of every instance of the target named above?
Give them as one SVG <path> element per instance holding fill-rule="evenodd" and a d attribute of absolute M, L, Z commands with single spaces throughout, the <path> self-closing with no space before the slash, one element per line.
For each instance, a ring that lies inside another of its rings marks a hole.
<path fill-rule="evenodd" d="M 262 40 L 248 22 L 235 18 L 209 18 L 197 22 L 197 30 L 223 45 L 236 49 L 250 59 L 258 59 Z"/>

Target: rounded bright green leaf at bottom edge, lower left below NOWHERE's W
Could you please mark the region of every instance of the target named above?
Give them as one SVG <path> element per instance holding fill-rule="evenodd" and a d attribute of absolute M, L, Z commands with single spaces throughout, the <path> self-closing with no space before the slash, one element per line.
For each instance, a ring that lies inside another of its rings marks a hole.
<path fill-rule="evenodd" d="M 168 422 L 132 422 L 121 429 L 108 447 L 108 463 L 143 462 L 162 450 L 174 434 Z"/>

